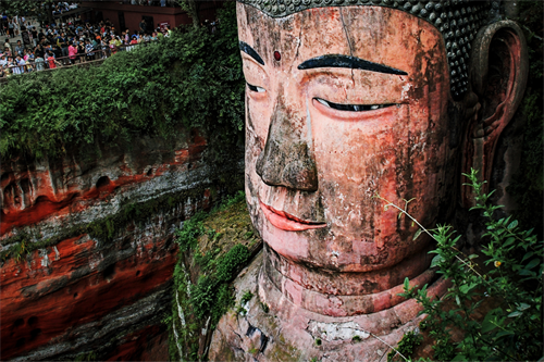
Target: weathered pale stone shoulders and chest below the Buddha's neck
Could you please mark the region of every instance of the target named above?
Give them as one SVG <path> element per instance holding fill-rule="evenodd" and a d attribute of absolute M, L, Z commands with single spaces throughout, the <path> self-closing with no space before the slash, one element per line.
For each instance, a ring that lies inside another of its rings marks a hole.
<path fill-rule="evenodd" d="M 233 311 L 221 319 L 210 346 L 210 361 L 380 361 L 390 346 L 423 317 L 417 316 L 421 307 L 413 300 L 355 317 L 310 312 L 287 300 L 270 283 L 262 263 L 260 254 L 236 279 L 236 300 L 247 291 L 255 297 L 242 305 L 247 313 Z M 441 295 L 445 286 L 438 280 L 430 294 Z"/>

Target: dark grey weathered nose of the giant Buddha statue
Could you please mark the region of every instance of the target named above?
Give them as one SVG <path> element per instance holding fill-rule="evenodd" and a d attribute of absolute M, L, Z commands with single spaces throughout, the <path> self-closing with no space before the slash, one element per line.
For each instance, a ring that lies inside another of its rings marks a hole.
<path fill-rule="evenodd" d="M 256 171 L 264 184 L 301 191 L 318 190 L 318 171 L 306 134 L 306 122 L 294 122 L 277 104 Z M 311 136 L 310 136 L 311 137 Z"/>

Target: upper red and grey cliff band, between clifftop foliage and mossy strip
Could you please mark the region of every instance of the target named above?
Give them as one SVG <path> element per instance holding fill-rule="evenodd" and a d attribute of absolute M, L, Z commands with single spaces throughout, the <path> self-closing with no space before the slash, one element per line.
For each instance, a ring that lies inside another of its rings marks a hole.
<path fill-rule="evenodd" d="M 0 239 L 28 225 L 49 237 L 58 227 L 90 223 L 127 202 L 209 183 L 211 171 L 201 162 L 206 139 L 198 134 L 182 134 L 180 139 L 173 150 L 157 139 L 141 139 L 132 151 L 106 149 L 101 155 L 83 160 L 69 155 L 54 161 L 3 162 Z"/>

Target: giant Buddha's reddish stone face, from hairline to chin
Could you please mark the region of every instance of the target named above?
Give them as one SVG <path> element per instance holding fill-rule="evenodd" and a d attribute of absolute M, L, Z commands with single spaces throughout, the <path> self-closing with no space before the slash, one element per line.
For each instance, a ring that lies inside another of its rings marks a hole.
<path fill-rule="evenodd" d="M 459 121 L 438 30 L 380 7 L 283 18 L 237 7 L 246 191 L 264 241 L 344 272 L 421 251 L 429 240 L 413 240 L 417 225 L 378 196 L 425 226 L 454 201 Z"/>

